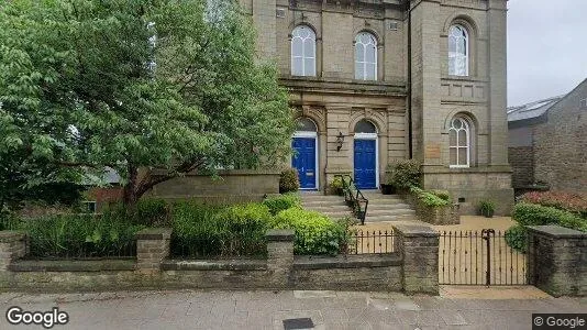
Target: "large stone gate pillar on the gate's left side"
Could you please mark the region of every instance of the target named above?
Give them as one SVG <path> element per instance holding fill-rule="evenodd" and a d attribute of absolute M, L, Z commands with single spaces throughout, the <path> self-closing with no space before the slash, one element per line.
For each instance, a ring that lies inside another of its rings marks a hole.
<path fill-rule="evenodd" d="M 394 226 L 396 251 L 403 257 L 401 284 L 407 294 L 439 294 L 439 232 L 428 226 Z"/>

